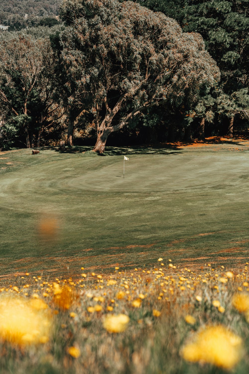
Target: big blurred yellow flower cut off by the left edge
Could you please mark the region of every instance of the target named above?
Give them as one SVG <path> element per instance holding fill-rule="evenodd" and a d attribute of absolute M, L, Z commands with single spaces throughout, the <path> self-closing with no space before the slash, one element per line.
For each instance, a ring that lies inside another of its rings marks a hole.
<path fill-rule="evenodd" d="M 39 301 L 39 300 L 32 300 Z M 33 308 L 27 299 L 2 296 L 0 338 L 19 346 L 48 340 L 50 321 L 44 310 Z"/>

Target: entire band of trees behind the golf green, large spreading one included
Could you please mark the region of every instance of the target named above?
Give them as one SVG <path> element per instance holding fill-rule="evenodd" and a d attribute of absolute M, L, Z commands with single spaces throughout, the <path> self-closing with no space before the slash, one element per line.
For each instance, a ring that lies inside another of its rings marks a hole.
<path fill-rule="evenodd" d="M 0 148 L 65 131 L 73 145 L 77 129 L 102 153 L 109 135 L 174 141 L 247 128 L 247 3 L 65 0 L 61 25 L 43 17 L 2 31 Z"/>

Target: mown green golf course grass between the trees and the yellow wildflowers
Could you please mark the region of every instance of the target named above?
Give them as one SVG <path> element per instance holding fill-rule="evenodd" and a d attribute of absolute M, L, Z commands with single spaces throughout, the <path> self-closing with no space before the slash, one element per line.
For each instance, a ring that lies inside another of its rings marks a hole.
<path fill-rule="evenodd" d="M 1 278 L 248 261 L 249 142 L 89 149 L 0 153 Z"/>

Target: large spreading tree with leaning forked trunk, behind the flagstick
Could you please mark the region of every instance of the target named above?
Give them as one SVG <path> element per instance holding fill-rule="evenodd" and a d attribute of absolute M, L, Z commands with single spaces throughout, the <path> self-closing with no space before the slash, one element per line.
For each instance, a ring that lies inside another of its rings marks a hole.
<path fill-rule="evenodd" d="M 108 136 L 148 108 L 195 101 L 200 86 L 215 86 L 220 72 L 202 37 L 183 33 L 174 19 L 137 3 L 66 0 L 59 64 L 75 111 L 94 116 L 103 153 Z"/>

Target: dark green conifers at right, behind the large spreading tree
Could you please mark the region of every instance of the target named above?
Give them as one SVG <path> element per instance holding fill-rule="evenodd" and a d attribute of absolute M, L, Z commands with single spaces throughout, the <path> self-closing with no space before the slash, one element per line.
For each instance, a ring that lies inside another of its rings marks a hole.
<path fill-rule="evenodd" d="M 233 136 L 249 119 L 249 3 L 247 0 L 139 0 L 176 19 L 184 32 L 200 33 L 210 55 L 217 62 L 221 80 L 216 90 L 204 89 L 189 113 L 193 125 L 199 120 L 199 137 L 205 122 L 215 134 Z M 188 114 L 188 113 L 187 113 Z M 186 115 L 187 115 L 186 114 Z"/>

